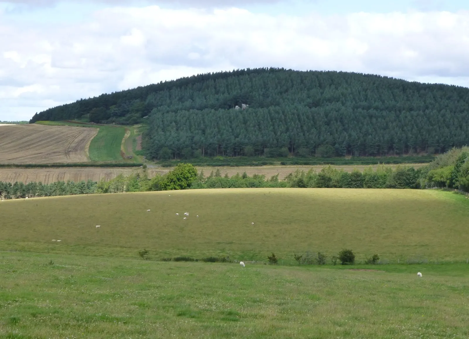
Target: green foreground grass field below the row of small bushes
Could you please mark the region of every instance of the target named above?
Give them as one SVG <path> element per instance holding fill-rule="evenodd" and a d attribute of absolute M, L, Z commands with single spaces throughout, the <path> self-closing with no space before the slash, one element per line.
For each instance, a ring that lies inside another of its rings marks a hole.
<path fill-rule="evenodd" d="M 462 339 L 466 267 L 241 268 L 0 252 L 0 337 Z"/>

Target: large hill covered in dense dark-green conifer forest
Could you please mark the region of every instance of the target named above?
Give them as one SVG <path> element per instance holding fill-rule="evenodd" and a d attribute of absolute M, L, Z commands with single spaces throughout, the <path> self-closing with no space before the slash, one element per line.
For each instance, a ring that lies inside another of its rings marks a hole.
<path fill-rule="evenodd" d="M 469 144 L 469 89 L 358 73 L 246 69 L 103 94 L 48 109 L 31 122 L 80 118 L 148 123 L 143 145 L 153 159 L 307 156 L 318 147 L 336 155 L 438 153 Z"/>

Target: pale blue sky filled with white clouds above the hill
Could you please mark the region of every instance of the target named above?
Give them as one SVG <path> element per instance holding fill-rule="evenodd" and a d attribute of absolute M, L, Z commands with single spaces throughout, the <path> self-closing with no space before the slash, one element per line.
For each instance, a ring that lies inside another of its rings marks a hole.
<path fill-rule="evenodd" d="M 469 87 L 467 0 L 0 0 L 0 42 L 0 121 L 246 67 Z"/>

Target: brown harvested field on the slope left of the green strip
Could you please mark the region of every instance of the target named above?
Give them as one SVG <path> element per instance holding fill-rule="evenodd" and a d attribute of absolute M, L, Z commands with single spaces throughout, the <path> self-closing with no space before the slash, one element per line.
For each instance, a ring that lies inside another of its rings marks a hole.
<path fill-rule="evenodd" d="M 0 129 L 0 163 L 87 162 L 97 128 L 7 125 Z"/>

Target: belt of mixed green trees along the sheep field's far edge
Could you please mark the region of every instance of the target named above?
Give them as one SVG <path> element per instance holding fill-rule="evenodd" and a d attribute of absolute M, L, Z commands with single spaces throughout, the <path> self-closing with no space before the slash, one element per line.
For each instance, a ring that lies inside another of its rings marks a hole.
<path fill-rule="evenodd" d="M 401 167 L 396 169 L 378 166 L 365 168 L 363 172 L 353 170 L 346 172 L 332 166 L 315 170 L 296 170 L 280 180 L 279 175 L 266 178 L 264 175 L 248 176 L 245 172 L 232 177 L 221 176 L 219 169 L 208 176 L 204 172 L 197 173 L 192 164 L 180 163 L 174 170 L 165 175 L 149 178 L 146 168 L 129 176 L 119 175 L 110 181 L 99 183 L 89 180 L 74 183 L 71 181 L 57 182 L 49 185 L 42 183 L 0 182 L 0 197 L 2 199 L 17 199 L 26 197 L 45 197 L 56 195 L 93 194 L 93 193 L 123 193 L 168 191 L 182 189 L 204 188 L 454 188 L 469 192 L 469 147 L 452 149 L 439 155 L 429 165 L 419 169 Z"/>

